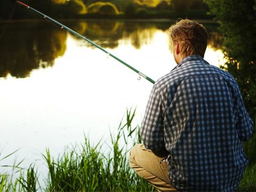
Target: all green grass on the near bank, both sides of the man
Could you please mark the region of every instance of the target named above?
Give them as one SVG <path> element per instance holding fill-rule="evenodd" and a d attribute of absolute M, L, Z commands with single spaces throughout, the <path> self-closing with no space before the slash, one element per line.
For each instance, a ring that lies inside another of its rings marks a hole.
<path fill-rule="evenodd" d="M 135 143 L 141 143 L 139 126 L 133 125 L 135 109 L 126 110 L 126 123 L 118 126 L 118 133 L 110 136 L 111 145 L 109 151 L 103 151 L 106 145 L 99 141 L 91 145 L 85 137 L 81 145 L 73 145 L 59 155 L 58 158 L 51 156 L 50 150 L 46 149 L 43 159 L 46 162 L 48 175 L 43 183 L 39 183 L 39 173 L 34 163 L 27 169 L 22 169 L 21 162 L 13 165 L 13 172 L 0 173 L 0 192 L 2 191 L 155 191 L 147 181 L 138 177 L 130 169 L 129 151 Z M 256 137 L 247 144 L 255 146 Z M 121 144 L 123 143 L 123 144 Z M 253 144 L 254 143 L 254 144 Z M 245 144 L 245 148 L 246 145 Z M 253 144 L 253 145 L 252 145 Z M 130 146 L 130 147 L 129 147 Z M 246 153 L 254 153 L 254 148 Z M 0 161 L 13 155 L 0 156 Z M 1 154 L 0 154 L 1 155 Z M 249 155 L 250 158 L 250 155 Z M 18 177 L 13 179 L 13 174 Z M 256 163 L 250 159 L 246 167 L 244 177 L 236 191 L 256 190 Z"/>

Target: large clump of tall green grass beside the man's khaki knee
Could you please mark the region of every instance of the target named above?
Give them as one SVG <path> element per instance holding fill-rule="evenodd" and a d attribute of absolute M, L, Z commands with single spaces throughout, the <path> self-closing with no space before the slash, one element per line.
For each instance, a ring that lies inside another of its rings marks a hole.
<path fill-rule="evenodd" d="M 102 151 L 101 142 L 92 146 L 86 137 L 82 145 L 67 148 L 55 160 L 47 149 L 44 156 L 49 169 L 46 191 L 153 191 L 153 187 L 140 179 L 128 163 L 126 145 L 133 134 L 138 133 L 138 126 L 132 129 L 131 125 L 134 115 L 135 110 L 133 113 L 127 110 L 126 123 L 119 124 L 116 137 L 110 136 L 111 145 L 107 152 Z M 123 146 L 120 145 L 122 137 L 125 138 Z"/>

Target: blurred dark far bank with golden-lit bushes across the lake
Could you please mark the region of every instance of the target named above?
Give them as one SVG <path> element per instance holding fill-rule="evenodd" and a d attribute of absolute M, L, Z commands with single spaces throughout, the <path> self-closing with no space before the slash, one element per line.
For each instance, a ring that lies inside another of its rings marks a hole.
<path fill-rule="evenodd" d="M 0 19 L 6 20 L 15 0 L 0 1 Z M 81 18 L 201 18 L 209 19 L 209 7 L 203 0 L 23 0 L 39 11 L 58 19 Z M 12 19 L 33 19 L 18 6 Z"/>

